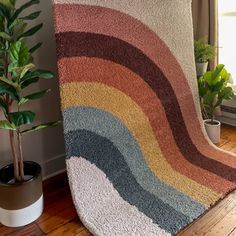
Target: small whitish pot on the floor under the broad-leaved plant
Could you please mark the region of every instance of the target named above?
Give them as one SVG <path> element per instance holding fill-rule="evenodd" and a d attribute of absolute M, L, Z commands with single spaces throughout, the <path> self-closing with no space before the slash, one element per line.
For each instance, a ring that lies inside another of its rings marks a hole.
<path fill-rule="evenodd" d="M 206 132 L 208 134 L 208 137 L 213 143 L 219 143 L 221 123 L 218 120 L 214 120 L 214 124 L 211 124 L 210 121 L 211 121 L 210 119 L 204 120 L 204 125 L 205 125 Z"/>

